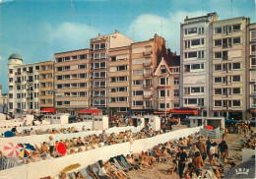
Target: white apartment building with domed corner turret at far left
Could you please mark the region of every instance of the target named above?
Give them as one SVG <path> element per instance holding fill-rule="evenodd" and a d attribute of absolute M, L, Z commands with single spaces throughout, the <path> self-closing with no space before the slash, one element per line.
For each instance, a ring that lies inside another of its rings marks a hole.
<path fill-rule="evenodd" d="M 39 63 L 22 64 L 19 54 L 8 63 L 9 113 L 39 112 Z"/>

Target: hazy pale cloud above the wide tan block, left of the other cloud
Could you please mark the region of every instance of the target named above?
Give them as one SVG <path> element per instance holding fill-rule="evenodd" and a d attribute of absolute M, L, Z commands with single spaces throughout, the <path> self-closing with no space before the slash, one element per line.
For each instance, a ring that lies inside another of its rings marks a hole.
<path fill-rule="evenodd" d="M 56 47 L 54 52 L 89 48 L 90 38 L 95 37 L 97 30 L 86 24 L 64 22 L 58 26 L 44 25 L 47 40 Z"/>

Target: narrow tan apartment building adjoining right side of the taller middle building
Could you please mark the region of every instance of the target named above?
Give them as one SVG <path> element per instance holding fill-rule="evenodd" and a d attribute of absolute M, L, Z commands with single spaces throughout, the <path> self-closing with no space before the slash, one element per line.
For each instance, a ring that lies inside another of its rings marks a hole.
<path fill-rule="evenodd" d="M 108 58 L 109 113 L 128 115 L 131 107 L 130 46 L 109 49 Z"/>

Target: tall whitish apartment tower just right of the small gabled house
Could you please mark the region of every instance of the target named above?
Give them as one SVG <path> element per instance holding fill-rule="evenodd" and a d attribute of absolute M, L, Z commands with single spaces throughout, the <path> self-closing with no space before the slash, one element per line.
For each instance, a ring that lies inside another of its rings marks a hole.
<path fill-rule="evenodd" d="M 180 27 L 180 105 L 197 107 L 202 115 L 212 109 L 212 31 L 216 13 L 188 18 Z"/>

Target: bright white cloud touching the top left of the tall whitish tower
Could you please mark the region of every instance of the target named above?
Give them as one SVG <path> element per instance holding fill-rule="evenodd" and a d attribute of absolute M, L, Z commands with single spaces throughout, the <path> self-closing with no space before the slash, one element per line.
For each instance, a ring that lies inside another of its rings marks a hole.
<path fill-rule="evenodd" d="M 158 33 L 165 38 L 166 45 L 171 51 L 179 53 L 180 23 L 184 22 L 186 16 L 191 18 L 202 16 L 202 12 L 179 11 L 169 13 L 165 18 L 154 14 L 144 14 L 130 24 L 127 34 L 135 40 L 148 40 Z"/>

